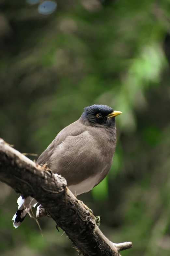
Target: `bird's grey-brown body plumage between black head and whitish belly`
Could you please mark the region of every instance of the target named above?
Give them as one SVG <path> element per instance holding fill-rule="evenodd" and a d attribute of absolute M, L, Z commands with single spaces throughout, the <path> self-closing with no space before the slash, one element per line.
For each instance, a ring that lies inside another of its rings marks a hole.
<path fill-rule="evenodd" d="M 37 162 L 47 162 L 53 173 L 64 176 L 68 186 L 94 175 L 97 185 L 110 169 L 115 147 L 115 128 L 85 126 L 78 120 L 56 136 Z"/>

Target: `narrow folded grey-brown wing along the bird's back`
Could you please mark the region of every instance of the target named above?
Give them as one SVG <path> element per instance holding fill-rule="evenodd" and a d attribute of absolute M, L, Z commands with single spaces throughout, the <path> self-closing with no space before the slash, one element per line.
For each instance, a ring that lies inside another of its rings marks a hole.
<path fill-rule="evenodd" d="M 67 136 L 77 136 L 85 131 L 85 126 L 78 120 L 71 125 L 65 127 L 61 130 L 51 144 L 46 148 L 46 150 L 39 156 L 37 159 L 38 164 L 45 164 L 50 160 L 51 155 L 53 154 L 54 149 L 60 145 Z"/>

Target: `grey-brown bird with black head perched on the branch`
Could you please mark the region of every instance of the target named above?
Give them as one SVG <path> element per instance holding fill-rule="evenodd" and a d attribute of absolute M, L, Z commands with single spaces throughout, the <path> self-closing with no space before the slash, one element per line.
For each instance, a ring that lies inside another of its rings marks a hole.
<path fill-rule="evenodd" d="M 73 194 L 92 190 L 112 165 L 116 148 L 115 117 L 120 114 L 106 105 L 85 107 L 80 118 L 61 130 L 36 162 L 63 176 Z M 18 211 L 12 218 L 15 228 L 37 201 L 31 196 L 25 199 L 20 196 L 17 203 Z"/>

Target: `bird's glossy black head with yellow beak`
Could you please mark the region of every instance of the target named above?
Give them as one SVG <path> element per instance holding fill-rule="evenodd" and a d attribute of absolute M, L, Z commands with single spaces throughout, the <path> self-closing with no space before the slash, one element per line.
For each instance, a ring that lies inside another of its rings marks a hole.
<path fill-rule="evenodd" d="M 81 119 L 88 120 L 93 126 L 115 126 L 115 116 L 122 114 L 106 105 L 91 105 L 84 108 Z"/>

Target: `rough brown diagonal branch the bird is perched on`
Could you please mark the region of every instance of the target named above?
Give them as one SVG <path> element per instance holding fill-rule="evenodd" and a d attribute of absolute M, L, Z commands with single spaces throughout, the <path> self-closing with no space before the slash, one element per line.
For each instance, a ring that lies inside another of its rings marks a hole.
<path fill-rule="evenodd" d="M 65 231 L 84 255 L 120 256 L 131 242 L 114 244 L 96 225 L 91 214 L 66 187 L 66 180 L 54 175 L 0 139 L 0 180 L 26 198 L 34 197 L 57 226 Z"/>

